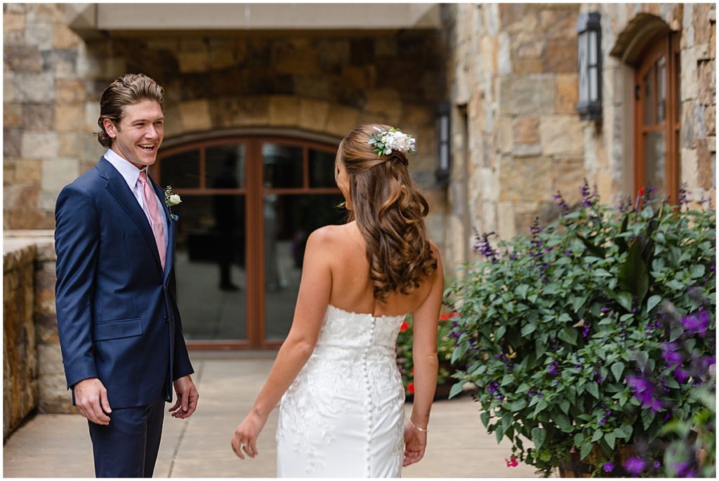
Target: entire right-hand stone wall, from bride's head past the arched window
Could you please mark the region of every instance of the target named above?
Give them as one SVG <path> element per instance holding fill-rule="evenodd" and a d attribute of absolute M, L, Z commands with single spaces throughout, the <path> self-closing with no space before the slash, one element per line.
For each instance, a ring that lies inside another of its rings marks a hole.
<path fill-rule="evenodd" d="M 577 114 L 577 20 L 601 23 L 603 119 Z M 678 39 L 678 183 L 715 201 L 713 4 L 452 4 L 447 27 L 452 180 L 446 262 L 472 258 L 472 229 L 509 239 L 580 199 L 583 178 L 615 203 L 636 192 L 633 71 Z M 714 205 L 714 204 L 712 204 Z"/>

